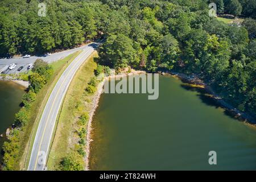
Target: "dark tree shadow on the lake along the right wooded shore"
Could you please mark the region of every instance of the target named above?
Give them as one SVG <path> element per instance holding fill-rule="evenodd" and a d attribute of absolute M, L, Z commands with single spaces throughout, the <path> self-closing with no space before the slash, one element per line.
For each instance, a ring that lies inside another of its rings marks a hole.
<path fill-rule="evenodd" d="M 226 109 L 226 107 L 222 106 L 218 100 L 214 97 L 212 97 L 209 92 L 205 88 L 200 88 L 198 86 L 192 86 L 189 84 L 181 84 L 181 87 L 185 90 L 192 91 L 192 92 L 197 92 L 197 96 L 201 99 L 201 101 L 208 105 L 208 106 L 213 106 L 216 109 L 217 108 L 222 108 L 224 109 L 224 114 L 228 115 L 230 118 L 235 118 L 238 121 L 245 121 L 245 119 L 238 117 L 236 113 L 234 113 L 232 110 Z"/>

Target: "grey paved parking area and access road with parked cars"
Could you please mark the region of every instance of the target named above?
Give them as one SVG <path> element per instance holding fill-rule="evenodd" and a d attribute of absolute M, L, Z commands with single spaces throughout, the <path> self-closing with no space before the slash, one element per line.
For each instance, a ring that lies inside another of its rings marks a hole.
<path fill-rule="evenodd" d="M 34 63 L 36 59 L 43 59 L 44 61 L 47 61 L 47 63 L 52 63 L 53 61 L 57 61 L 60 59 L 63 59 L 64 57 L 67 57 L 68 55 L 71 55 L 72 53 L 79 51 L 81 49 L 84 49 L 87 46 L 81 46 L 73 49 L 69 49 L 66 51 L 62 52 L 56 52 L 52 53 L 49 56 L 31 56 L 29 58 L 23 58 L 23 57 L 13 57 L 11 59 L 0 59 L 0 73 L 5 72 L 5 74 L 13 74 L 13 73 L 18 73 L 18 68 L 19 67 L 24 67 L 21 71 L 19 72 L 26 72 L 28 64 Z M 8 66 L 10 64 L 15 63 L 17 66 L 13 70 L 9 70 Z"/>

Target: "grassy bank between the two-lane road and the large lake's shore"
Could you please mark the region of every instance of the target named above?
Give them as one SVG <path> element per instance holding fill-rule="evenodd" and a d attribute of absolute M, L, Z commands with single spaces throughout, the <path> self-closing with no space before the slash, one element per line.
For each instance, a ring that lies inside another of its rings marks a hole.
<path fill-rule="evenodd" d="M 69 151 L 77 150 L 78 136 L 76 130 L 79 126 L 77 126 L 76 121 L 82 113 L 85 111 L 89 113 L 90 109 L 92 109 L 91 101 L 94 96 L 86 94 L 85 88 L 94 76 L 94 69 L 97 67 L 94 62 L 94 57 L 96 56 L 97 53 L 93 53 L 80 67 L 68 88 L 57 121 L 57 128 L 47 162 L 49 170 L 60 169 L 59 163 L 61 159 Z"/>

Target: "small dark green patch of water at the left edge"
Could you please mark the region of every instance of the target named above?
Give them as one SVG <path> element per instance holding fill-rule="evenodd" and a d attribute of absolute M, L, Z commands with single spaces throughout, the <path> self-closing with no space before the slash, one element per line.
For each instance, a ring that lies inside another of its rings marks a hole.
<path fill-rule="evenodd" d="M 11 81 L 0 81 L 0 134 L 14 123 L 14 115 L 20 109 L 24 87 Z M 6 139 L 0 137 L 0 151 Z M 1 156 L 0 156 L 1 161 Z"/>

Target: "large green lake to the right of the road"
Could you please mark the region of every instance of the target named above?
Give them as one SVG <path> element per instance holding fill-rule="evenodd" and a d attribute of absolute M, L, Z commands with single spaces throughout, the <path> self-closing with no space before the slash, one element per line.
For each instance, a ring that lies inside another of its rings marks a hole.
<path fill-rule="evenodd" d="M 91 170 L 256 169 L 256 129 L 230 117 L 203 90 L 159 78 L 158 100 L 101 95 Z M 209 151 L 217 152 L 217 165 L 209 165 Z"/>

